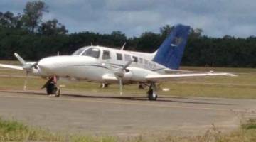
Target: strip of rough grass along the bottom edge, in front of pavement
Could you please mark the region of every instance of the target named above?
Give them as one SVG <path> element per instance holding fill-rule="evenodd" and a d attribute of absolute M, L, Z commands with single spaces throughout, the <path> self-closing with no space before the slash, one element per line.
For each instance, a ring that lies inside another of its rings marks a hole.
<path fill-rule="evenodd" d="M 43 129 L 26 126 L 19 121 L 0 119 L 0 141 L 74 141 L 74 142 L 233 142 L 233 141 L 256 141 L 256 120 L 250 119 L 241 124 L 240 129 L 230 133 L 223 133 L 214 125 L 201 136 L 136 136 L 130 138 L 118 138 L 113 136 L 82 136 L 64 133 L 52 133 Z"/>

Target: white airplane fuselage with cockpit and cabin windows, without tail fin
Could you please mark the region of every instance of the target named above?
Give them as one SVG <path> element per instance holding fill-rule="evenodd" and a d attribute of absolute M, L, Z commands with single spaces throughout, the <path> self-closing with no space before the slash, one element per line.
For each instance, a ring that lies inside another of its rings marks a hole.
<path fill-rule="evenodd" d="M 100 46 L 88 46 L 78 49 L 73 55 L 62 55 L 43 58 L 38 62 L 34 75 L 58 76 L 87 80 L 90 82 L 117 82 L 107 80 L 104 76 L 113 77 L 113 71 L 134 60 L 123 77 L 123 81 L 144 82 L 146 75 L 164 73 L 166 67 L 152 61 L 154 53 L 137 53 Z"/>

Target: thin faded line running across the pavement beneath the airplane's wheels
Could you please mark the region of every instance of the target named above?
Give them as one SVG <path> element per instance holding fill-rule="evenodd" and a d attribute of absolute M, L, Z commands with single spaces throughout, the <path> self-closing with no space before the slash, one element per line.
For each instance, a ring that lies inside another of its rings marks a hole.
<path fill-rule="evenodd" d="M 166 108 L 178 108 L 178 109 L 203 109 L 203 110 L 214 110 L 214 111 L 233 111 L 240 113 L 249 113 L 255 114 L 255 111 L 251 110 L 243 110 L 243 109 L 219 109 L 212 107 L 192 107 L 192 106 L 178 106 L 178 105 L 164 105 L 164 104 L 142 104 L 142 103 L 134 103 L 134 102 L 110 102 L 110 101 L 100 101 L 100 100 L 92 100 L 92 99 L 65 99 L 65 98 L 50 98 L 50 97 L 28 97 L 28 96 L 3 96 L 0 94 L 0 97 L 15 97 L 15 98 L 25 98 L 25 99 L 48 99 L 53 101 L 68 101 L 68 102 L 97 102 L 97 103 L 105 103 L 105 104 L 125 104 L 125 105 L 137 105 L 137 106 L 148 106 L 148 107 L 166 107 Z M 154 102 L 151 102 L 154 103 Z"/>

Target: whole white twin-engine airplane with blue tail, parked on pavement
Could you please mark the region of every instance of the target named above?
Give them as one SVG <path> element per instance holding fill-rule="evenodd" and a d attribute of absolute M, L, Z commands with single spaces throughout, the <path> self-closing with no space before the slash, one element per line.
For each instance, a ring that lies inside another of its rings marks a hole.
<path fill-rule="evenodd" d="M 156 100 L 157 82 L 168 82 L 184 77 L 234 76 L 225 72 L 178 70 L 189 31 L 189 26 L 178 24 L 154 53 L 91 45 L 76 50 L 72 55 L 43 58 L 39 62 L 25 62 L 14 53 L 22 66 L 0 64 L 0 67 L 24 70 L 27 75 L 48 78 L 48 82 L 42 88 L 46 88 L 47 94 L 55 94 L 56 97 L 60 95 L 60 89 L 56 85 L 60 77 L 102 84 L 119 84 L 120 94 L 122 84 L 146 84 L 149 86 L 149 100 Z"/>

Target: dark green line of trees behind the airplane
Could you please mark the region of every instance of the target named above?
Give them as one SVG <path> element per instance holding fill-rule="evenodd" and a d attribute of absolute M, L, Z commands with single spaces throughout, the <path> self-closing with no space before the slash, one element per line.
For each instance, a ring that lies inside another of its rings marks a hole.
<path fill-rule="evenodd" d="M 125 50 L 154 52 L 174 26 L 159 28 L 159 33 L 144 32 L 127 38 L 121 31 L 101 34 L 89 31 L 68 33 L 57 19 L 42 21 L 48 13 L 43 1 L 30 1 L 23 13 L 0 12 L 0 60 L 15 60 L 14 52 L 26 60 L 40 60 L 56 55 L 70 55 L 85 45 L 103 45 Z M 201 29 L 191 28 L 182 65 L 210 67 L 256 67 L 256 38 L 212 38 L 202 35 Z"/>

